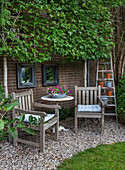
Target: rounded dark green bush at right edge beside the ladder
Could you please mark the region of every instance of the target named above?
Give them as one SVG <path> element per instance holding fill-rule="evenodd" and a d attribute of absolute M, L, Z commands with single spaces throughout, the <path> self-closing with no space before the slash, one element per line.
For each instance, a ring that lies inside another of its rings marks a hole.
<path fill-rule="evenodd" d="M 119 120 L 125 123 L 125 73 L 121 77 L 117 89 L 116 89 L 116 99 L 117 99 L 117 112 Z"/>

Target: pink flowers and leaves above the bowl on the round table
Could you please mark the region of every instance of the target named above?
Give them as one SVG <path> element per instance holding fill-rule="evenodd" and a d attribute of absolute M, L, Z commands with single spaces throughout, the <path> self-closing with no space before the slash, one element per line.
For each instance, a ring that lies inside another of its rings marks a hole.
<path fill-rule="evenodd" d="M 67 95 L 70 95 L 71 91 L 68 90 L 66 87 L 60 87 L 58 85 L 58 86 L 49 88 L 48 93 L 50 93 L 50 94 L 67 94 Z"/>

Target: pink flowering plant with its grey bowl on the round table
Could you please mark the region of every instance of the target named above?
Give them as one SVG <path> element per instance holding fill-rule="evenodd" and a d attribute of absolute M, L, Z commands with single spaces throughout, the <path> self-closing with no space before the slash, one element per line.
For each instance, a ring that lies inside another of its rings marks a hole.
<path fill-rule="evenodd" d="M 71 91 L 66 87 L 55 86 L 48 89 L 48 93 L 52 98 L 64 98 L 66 95 L 71 95 Z"/>

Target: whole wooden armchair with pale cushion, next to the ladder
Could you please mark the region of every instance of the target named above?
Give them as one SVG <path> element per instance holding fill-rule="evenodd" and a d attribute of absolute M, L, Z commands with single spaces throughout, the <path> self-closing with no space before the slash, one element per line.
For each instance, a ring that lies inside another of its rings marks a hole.
<path fill-rule="evenodd" d="M 77 135 L 77 118 L 100 118 L 101 134 L 104 131 L 104 102 L 101 100 L 101 86 L 75 86 L 75 134 Z"/>

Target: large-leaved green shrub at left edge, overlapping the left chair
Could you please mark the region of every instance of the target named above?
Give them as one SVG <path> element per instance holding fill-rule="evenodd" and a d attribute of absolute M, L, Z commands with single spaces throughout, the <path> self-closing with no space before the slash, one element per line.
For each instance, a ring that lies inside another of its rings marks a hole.
<path fill-rule="evenodd" d="M 26 127 L 23 123 L 25 119 L 25 114 L 22 114 L 20 118 L 10 119 L 9 112 L 13 110 L 13 108 L 18 105 L 19 103 L 17 100 L 12 101 L 11 96 L 9 95 L 8 98 L 4 98 L 4 90 L 2 86 L 0 86 L 0 141 L 5 140 L 8 138 L 8 135 L 12 136 L 12 138 L 17 137 L 16 128 L 21 128 L 23 131 L 26 131 L 29 134 L 35 135 L 36 133 L 30 127 Z M 29 118 L 30 125 L 36 123 L 32 116 Z M 14 127 L 9 126 L 11 123 L 16 122 Z"/>

